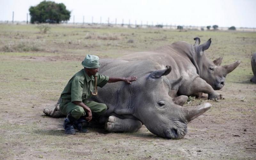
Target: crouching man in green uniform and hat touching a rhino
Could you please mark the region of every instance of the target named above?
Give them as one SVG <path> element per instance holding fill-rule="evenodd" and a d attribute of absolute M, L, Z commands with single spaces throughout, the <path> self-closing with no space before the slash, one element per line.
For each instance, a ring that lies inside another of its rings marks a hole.
<path fill-rule="evenodd" d="M 92 95 L 97 95 L 97 86 L 103 87 L 107 83 L 118 81 L 131 84 L 132 81 L 137 80 L 136 76 L 125 78 L 100 75 L 97 73 L 100 67 L 98 56 L 86 55 L 82 65 L 84 69 L 68 81 L 60 96 L 60 112 L 67 115 L 63 125 L 66 134 L 76 134 L 75 129 L 88 132 L 82 129 L 82 123 L 92 119 L 92 112 L 100 116 L 108 109 L 103 103 L 89 101 Z"/>

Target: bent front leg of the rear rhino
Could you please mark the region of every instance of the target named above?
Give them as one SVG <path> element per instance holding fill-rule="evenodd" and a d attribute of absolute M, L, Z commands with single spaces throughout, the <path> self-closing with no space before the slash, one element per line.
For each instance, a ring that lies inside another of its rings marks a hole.
<path fill-rule="evenodd" d="M 192 82 L 187 82 L 179 89 L 179 94 L 192 95 L 198 92 L 208 94 L 209 100 L 220 99 L 220 94 L 213 90 L 212 86 L 200 77 L 196 77 Z"/>

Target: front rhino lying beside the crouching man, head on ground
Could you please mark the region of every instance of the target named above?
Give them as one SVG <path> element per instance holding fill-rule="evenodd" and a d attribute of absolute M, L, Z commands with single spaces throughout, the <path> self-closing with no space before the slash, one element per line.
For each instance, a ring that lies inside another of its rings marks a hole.
<path fill-rule="evenodd" d="M 138 77 L 132 84 L 108 83 L 93 97 L 92 100 L 108 106 L 99 119 L 108 132 L 134 132 L 144 124 L 158 136 L 181 139 L 187 133 L 188 122 L 211 107 L 210 103 L 182 107 L 187 96 L 170 97 L 168 93 L 179 88 L 182 82 L 182 77 L 167 77 L 170 66 L 163 67 L 148 60 L 100 60 L 100 64 L 102 75 Z"/>

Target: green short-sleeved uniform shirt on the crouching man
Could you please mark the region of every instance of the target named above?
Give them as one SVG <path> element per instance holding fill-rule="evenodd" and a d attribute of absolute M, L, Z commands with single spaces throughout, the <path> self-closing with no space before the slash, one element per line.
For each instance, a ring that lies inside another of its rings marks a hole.
<path fill-rule="evenodd" d="M 97 86 L 99 87 L 103 87 L 109 80 L 108 76 L 103 76 L 99 73 L 96 73 L 95 76 L 98 77 Z M 94 76 L 89 77 L 84 69 L 81 69 L 68 81 L 61 93 L 61 98 L 71 102 L 88 100 L 92 96 L 91 92 L 95 92 L 94 81 Z"/>

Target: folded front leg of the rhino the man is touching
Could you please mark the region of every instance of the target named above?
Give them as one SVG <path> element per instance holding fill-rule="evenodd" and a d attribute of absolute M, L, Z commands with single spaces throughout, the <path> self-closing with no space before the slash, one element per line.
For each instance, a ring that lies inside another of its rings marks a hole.
<path fill-rule="evenodd" d="M 130 118 L 120 119 L 116 116 L 109 116 L 105 123 L 105 130 L 108 132 L 135 132 L 141 126 L 142 123 L 139 120 Z"/>

